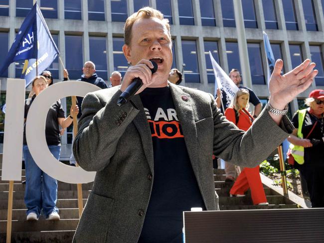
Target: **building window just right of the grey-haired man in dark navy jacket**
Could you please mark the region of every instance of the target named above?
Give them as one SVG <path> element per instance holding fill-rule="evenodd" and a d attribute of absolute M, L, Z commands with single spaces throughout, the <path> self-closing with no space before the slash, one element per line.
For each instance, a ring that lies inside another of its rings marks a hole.
<path fill-rule="evenodd" d="M 96 65 L 97 75 L 108 80 L 106 37 L 89 36 L 90 60 Z"/>

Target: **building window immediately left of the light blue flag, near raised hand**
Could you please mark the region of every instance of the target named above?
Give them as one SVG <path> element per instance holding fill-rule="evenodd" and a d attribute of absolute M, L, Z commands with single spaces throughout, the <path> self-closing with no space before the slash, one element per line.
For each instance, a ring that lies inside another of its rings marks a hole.
<path fill-rule="evenodd" d="M 248 43 L 252 84 L 266 84 L 260 43 Z"/>

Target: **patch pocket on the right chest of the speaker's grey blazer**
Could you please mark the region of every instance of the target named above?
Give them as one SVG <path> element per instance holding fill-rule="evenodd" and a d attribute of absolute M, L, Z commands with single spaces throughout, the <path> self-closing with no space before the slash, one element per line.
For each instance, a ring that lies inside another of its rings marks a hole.
<path fill-rule="evenodd" d="M 214 143 L 214 120 L 212 117 L 205 118 L 196 122 L 197 139 L 200 147 L 200 151 L 207 155 L 213 154 Z"/>

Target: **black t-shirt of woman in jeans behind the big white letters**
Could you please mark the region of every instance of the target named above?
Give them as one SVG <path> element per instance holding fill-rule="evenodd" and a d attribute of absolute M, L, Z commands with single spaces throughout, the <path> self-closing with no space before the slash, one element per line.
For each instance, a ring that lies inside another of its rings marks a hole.
<path fill-rule="evenodd" d="M 35 95 L 32 98 L 25 100 L 25 114 L 24 118 L 27 118 L 27 114 L 31 104 L 35 99 Z M 61 105 L 61 101 L 56 101 L 48 110 L 46 124 L 45 124 L 45 135 L 46 135 L 46 142 L 47 145 L 60 145 L 60 129 L 58 126 L 57 119 L 58 118 L 65 118 L 64 111 Z M 23 144 L 27 144 L 26 141 L 26 124 L 24 124 L 23 128 Z"/>

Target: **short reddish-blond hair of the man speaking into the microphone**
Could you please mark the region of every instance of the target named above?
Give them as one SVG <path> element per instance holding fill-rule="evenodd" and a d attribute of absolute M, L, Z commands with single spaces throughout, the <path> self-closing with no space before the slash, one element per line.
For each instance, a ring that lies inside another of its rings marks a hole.
<path fill-rule="evenodd" d="M 126 45 L 129 46 L 131 44 L 133 24 L 135 23 L 136 20 L 142 18 L 158 18 L 162 20 L 162 22 L 165 24 L 167 28 L 167 32 L 171 39 L 169 20 L 167 18 L 164 18 L 162 12 L 160 12 L 159 10 L 154 9 L 152 7 L 143 7 L 137 12 L 133 13 L 131 16 L 129 16 L 125 22 L 124 42 Z"/>

